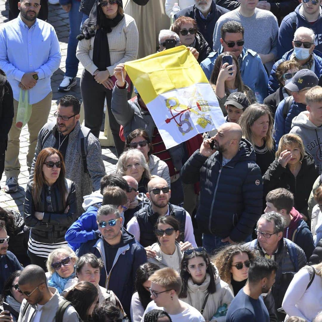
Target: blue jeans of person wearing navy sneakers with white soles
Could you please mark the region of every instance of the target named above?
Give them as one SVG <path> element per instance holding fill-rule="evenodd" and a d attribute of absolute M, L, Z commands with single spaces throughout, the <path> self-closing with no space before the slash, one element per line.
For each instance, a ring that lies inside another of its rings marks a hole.
<path fill-rule="evenodd" d="M 83 17 L 83 13 L 79 11 L 79 8 L 80 1 L 71 0 L 71 10 L 68 13 L 70 29 L 65 72 L 65 76 L 68 77 L 76 77 L 78 71 L 79 60 L 76 58 L 78 40 L 76 39 L 76 36 L 80 33 L 80 26 Z"/>

